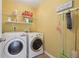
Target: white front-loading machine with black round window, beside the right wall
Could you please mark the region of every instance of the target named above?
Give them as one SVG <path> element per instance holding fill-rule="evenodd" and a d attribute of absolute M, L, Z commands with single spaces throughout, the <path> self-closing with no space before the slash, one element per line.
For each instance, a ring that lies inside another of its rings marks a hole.
<path fill-rule="evenodd" d="M 43 54 L 43 33 L 27 33 L 28 37 L 28 58 L 36 57 Z"/>

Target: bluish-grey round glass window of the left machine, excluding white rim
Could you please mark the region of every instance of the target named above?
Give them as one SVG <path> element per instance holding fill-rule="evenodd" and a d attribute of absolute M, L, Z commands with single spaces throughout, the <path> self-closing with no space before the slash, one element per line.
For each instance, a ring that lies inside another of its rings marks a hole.
<path fill-rule="evenodd" d="M 8 52 L 12 55 L 16 55 L 23 49 L 23 44 L 20 41 L 13 41 L 8 47 Z"/>

